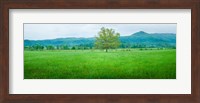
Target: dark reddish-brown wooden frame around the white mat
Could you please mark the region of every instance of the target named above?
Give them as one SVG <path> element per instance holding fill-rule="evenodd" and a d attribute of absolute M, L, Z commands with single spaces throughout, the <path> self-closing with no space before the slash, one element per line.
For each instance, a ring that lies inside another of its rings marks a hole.
<path fill-rule="evenodd" d="M 9 94 L 9 9 L 191 9 L 192 94 Z M 0 103 L 200 103 L 199 0 L 0 0 Z"/>

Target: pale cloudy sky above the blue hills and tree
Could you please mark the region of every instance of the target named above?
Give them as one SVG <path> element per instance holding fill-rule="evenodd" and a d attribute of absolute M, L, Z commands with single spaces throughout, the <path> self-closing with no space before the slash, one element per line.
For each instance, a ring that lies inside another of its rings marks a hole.
<path fill-rule="evenodd" d="M 144 31 L 147 33 L 175 33 L 176 24 L 24 24 L 24 39 L 44 40 L 67 37 L 94 37 L 102 27 L 112 28 L 120 36 Z"/>

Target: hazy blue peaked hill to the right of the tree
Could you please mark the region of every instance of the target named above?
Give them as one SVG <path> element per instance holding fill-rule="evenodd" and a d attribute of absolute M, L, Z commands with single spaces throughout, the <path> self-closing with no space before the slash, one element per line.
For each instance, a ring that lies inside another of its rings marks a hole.
<path fill-rule="evenodd" d="M 122 36 L 123 44 L 140 45 L 142 47 L 176 47 L 176 34 L 136 32 L 130 36 Z"/>

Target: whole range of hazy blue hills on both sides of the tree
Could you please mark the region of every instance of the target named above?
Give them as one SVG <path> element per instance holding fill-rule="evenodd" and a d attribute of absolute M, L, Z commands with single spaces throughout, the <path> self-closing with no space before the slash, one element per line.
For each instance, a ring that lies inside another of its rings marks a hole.
<path fill-rule="evenodd" d="M 121 47 L 176 47 L 176 34 L 173 33 L 146 33 L 139 31 L 129 36 L 120 36 Z M 24 40 L 24 46 L 36 44 L 47 46 L 68 45 L 93 46 L 95 38 L 57 38 L 49 40 Z"/>

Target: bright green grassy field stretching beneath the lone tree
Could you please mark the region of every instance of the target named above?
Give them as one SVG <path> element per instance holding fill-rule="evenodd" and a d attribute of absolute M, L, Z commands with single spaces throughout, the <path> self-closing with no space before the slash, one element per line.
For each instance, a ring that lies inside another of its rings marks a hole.
<path fill-rule="evenodd" d="M 175 78 L 175 49 L 24 51 L 24 79 Z"/>

